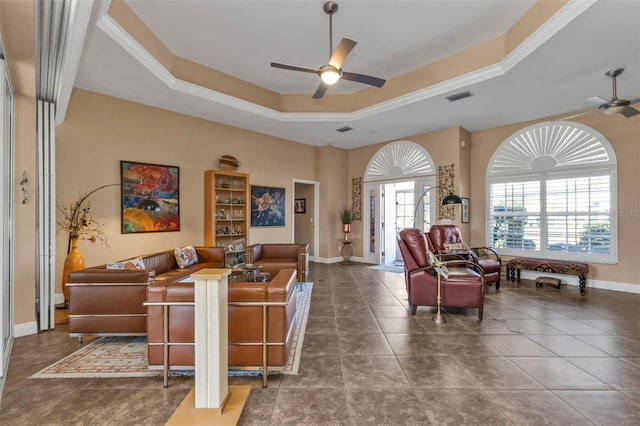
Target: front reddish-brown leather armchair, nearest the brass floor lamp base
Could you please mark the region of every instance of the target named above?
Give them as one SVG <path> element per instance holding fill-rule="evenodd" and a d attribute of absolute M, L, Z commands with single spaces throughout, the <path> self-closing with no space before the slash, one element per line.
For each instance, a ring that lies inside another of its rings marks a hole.
<path fill-rule="evenodd" d="M 427 236 L 416 228 L 400 231 L 398 240 L 404 260 L 404 277 L 407 288 L 409 310 L 415 315 L 418 306 L 436 306 L 438 277 L 428 261 Z M 482 321 L 484 308 L 484 272 L 467 260 L 445 261 L 448 278 L 441 278 L 441 305 L 451 308 L 478 308 L 478 319 Z"/>

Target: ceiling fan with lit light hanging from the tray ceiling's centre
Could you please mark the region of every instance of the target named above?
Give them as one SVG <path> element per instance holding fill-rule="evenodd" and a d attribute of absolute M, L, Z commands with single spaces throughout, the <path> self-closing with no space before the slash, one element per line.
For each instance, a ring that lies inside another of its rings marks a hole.
<path fill-rule="evenodd" d="M 333 51 L 333 14 L 338 11 L 338 3 L 334 1 L 328 1 L 322 6 L 322 10 L 329 15 L 329 63 L 323 65 L 318 69 L 296 67 L 293 65 L 279 64 L 277 62 L 271 62 L 271 66 L 274 68 L 282 68 L 291 71 L 302 71 L 318 74 L 320 77 L 320 86 L 313 94 L 313 99 L 320 99 L 324 96 L 325 92 L 330 85 L 334 84 L 341 78 L 344 80 L 356 81 L 358 83 L 368 84 L 370 86 L 382 87 L 386 80 L 381 78 L 372 77 L 370 75 L 356 74 L 342 70 L 342 64 L 347 58 L 347 55 L 358 44 L 356 41 L 349 38 L 343 38 L 340 44 Z"/>

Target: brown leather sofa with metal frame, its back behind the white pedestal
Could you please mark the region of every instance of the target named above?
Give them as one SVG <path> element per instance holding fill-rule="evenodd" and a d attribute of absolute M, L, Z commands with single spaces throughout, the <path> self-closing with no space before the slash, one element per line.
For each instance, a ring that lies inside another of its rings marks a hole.
<path fill-rule="evenodd" d="M 230 367 L 271 369 L 286 365 L 295 327 L 295 287 L 295 269 L 282 269 L 269 282 L 229 283 Z M 156 281 L 147 287 L 147 299 L 150 303 L 176 303 L 168 307 L 168 365 L 170 369 L 192 368 L 195 365 L 194 306 L 179 303 L 194 301 L 193 282 Z M 266 314 L 266 323 L 263 323 L 263 314 Z M 149 306 L 150 368 L 164 368 L 163 324 L 163 306 Z M 263 326 L 266 326 L 265 330 Z M 266 342 L 263 342 L 263 331 Z M 266 365 L 263 364 L 263 348 L 267 350 Z"/>

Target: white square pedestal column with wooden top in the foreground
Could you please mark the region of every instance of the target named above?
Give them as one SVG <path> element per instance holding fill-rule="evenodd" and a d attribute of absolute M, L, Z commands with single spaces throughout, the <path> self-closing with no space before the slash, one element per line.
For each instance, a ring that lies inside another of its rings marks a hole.
<path fill-rule="evenodd" d="M 229 269 L 202 269 L 195 283 L 195 408 L 222 410 L 229 397 Z"/>

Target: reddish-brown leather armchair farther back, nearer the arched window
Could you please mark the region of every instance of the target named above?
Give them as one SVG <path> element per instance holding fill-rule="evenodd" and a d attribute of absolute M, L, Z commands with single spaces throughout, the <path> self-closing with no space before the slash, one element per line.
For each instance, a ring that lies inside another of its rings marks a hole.
<path fill-rule="evenodd" d="M 445 244 L 464 243 L 460 228 L 455 225 L 432 225 L 429 229 L 429 239 L 435 253 L 446 252 Z M 496 285 L 500 289 L 500 275 L 502 271 L 502 259 L 500 253 L 490 247 L 470 247 L 471 259 L 480 265 L 484 271 L 487 285 Z"/>

